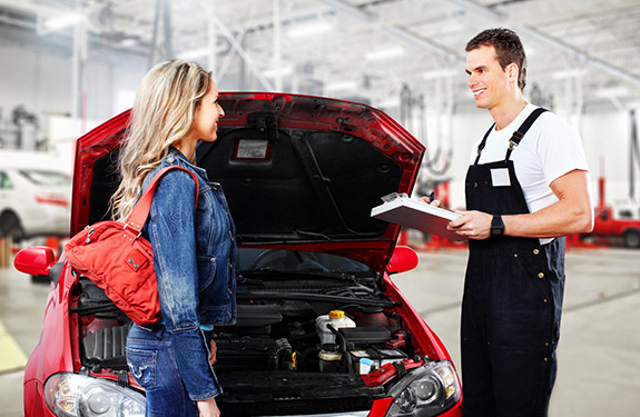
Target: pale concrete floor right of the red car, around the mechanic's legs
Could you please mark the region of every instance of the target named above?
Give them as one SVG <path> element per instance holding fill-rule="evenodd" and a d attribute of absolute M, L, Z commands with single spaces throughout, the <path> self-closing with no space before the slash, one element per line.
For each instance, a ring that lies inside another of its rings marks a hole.
<path fill-rule="evenodd" d="M 466 254 L 421 254 L 415 270 L 394 277 L 457 366 Z M 640 416 L 640 251 L 568 251 L 558 360 L 551 417 Z"/>

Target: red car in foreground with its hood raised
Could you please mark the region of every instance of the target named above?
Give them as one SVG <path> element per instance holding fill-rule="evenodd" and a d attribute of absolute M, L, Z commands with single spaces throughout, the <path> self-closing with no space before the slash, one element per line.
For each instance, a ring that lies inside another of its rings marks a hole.
<path fill-rule="evenodd" d="M 223 185 L 238 235 L 238 320 L 215 329 L 223 416 L 461 416 L 450 355 L 390 279 L 417 257 L 371 217 L 381 197 L 411 192 L 424 147 L 360 103 L 232 92 L 220 105 L 197 165 Z M 128 118 L 78 139 L 71 234 L 109 217 Z M 24 415 L 144 416 L 130 320 L 63 255 L 27 248 L 14 264 L 52 282 Z"/>

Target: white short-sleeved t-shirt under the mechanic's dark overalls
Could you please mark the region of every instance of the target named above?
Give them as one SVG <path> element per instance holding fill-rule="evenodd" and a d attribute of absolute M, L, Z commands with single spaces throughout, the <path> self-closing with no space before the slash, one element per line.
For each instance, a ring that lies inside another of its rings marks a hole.
<path fill-rule="evenodd" d="M 477 163 L 504 160 L 509 139 L 535 109 L 535 106 L 529 103 L 504 129 L 495 130 L 493 127 Z M 482 132 L 472 148 L 470 165 L 475 162 L 477 146 L 485 132 Z M 555 179 L 574 169 L 589 170 L 578 131 L 551 111 L 540 115 L 520 145 L 513 148 L 510 159 L 530 212 L 558 201 L 549 188 Z"/>

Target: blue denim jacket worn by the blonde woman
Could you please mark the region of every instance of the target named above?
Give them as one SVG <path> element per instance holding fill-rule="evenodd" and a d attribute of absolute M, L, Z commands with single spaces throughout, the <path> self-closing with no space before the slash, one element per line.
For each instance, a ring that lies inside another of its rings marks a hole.
<path fill-rule="evenodd" d="M 180 376 L 193 400 L 217 396 L 221 389 L 209 366 L 201 325 L 236 321 L 236 236 L 223 189 L 208 183 L 207 172 L 191 165 L 175 148 L 142 183 L 163 168 L 179 165 L 164 175 L 156 187 L 145 227 L 154 249 L 160 311 Z"/>

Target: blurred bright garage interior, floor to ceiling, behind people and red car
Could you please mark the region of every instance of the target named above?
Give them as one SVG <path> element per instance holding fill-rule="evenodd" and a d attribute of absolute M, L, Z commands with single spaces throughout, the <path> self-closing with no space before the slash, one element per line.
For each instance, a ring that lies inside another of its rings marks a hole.
<path fill-rule="evenodd" d="M 71 173 L 75 139 L 130 108 L 154 63 L 184 58 L 211 70 L 220 91 L 333 97 L 385 111 L 427 149 L 413 196 L 435 190 L 461 207 L 471 145 L 492 122 L 466 86 L 464 46 L 494 27 L 523 41 L 525 99 L 580 132 L 603 230 L 568 237 L 550 415 L 636 416 L 638 0 L 0 0 L 0 170 L 12 160 Z M 413 230 L 400 239 L 420 265 L 394 281 L 460 364 L 466 247 Z M 11 240 L 0 238 L 0 416 L 22 415 L 23 366 L 49 290 L 11 258 L 63 241 Z"/>

